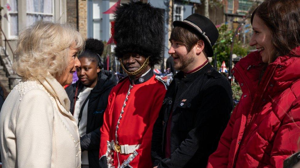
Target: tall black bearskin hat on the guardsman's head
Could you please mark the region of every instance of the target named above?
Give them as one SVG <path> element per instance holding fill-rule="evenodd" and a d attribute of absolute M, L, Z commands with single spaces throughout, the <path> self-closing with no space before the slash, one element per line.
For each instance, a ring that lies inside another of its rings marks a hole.
<path fill-rule="evenodd" d="M 129 2 L 115 11 L 114 41 L 116 57 L 127 53 L 150 56 L 151 66 L 160 63 L 164 41 L 162 10 L 149 3 Z"/>

